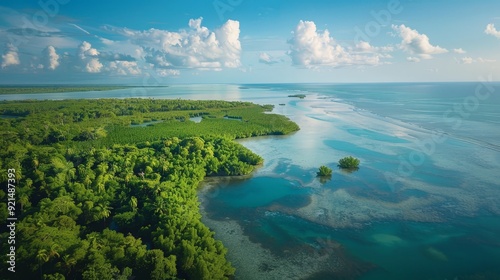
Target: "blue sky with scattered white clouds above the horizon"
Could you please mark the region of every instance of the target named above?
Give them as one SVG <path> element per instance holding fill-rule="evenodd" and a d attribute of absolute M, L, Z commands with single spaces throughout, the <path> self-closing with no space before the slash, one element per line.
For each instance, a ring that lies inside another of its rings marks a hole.
<path fill-rule="evenodd" d="M 500 1 L 0 0 L 0 84 L 500 80 Z"/>

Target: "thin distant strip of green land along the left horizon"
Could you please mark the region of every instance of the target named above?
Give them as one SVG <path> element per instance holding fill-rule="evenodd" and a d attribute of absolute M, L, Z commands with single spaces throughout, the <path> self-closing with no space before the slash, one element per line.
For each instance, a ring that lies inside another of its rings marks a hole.
<path fill-rule="evenodd" d="M 56 93 L 56 92 L 75 92 L 75 91 L 105 91 L 115 89 L 134 88 L 135 86 L 2 86 L 0 94 L 26 94 L 26 93 Z"/>

